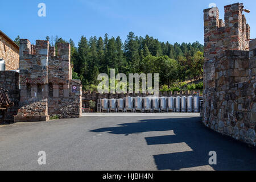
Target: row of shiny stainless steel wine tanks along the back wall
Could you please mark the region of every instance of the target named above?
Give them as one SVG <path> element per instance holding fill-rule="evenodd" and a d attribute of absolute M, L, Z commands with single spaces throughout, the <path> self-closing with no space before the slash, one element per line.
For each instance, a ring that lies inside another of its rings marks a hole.
<path fill-rule="evenodd" d="M 99 102 L 101 112 L 200 112 L 199 96 L 103 98 Z"/>

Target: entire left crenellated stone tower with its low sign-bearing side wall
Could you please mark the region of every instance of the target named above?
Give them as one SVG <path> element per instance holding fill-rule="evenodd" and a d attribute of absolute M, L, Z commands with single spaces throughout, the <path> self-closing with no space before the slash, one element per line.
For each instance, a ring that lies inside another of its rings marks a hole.
<path fill-rule="evenodd" d="M 49 46 L 46 40 L 32 45 L 20 39 L 20 102 L 14 121 L 48 121 L 81 117 L 81 81 L 72 80 L 71 48 L 68 43 Z M 74 89 L 75 88 L 75 89 Z"/>

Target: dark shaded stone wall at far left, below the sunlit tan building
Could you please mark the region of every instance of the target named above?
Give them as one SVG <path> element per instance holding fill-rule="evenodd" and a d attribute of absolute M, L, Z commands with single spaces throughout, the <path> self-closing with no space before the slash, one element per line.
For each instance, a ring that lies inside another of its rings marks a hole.
<path fill-rule="evenodd" d="M 19 73 L 14 71 L 0 71 L 0 87 L 8 90 L 10 100 L 14 106 L 5 111 L 5 123 L 14 122 L 14 115 L 18 112 L 19 105 Z"/>

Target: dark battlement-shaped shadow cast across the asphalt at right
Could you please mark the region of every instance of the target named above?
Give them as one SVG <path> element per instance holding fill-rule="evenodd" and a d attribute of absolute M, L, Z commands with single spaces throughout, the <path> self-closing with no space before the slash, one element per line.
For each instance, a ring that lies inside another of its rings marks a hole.
<path fill-rule="evenodd" d="M 147 137 L 148 145 L 185 143 L 192 151 L 154 155 L 159 170 L 178 170 L 209 165 L 210 151 L 217 152 L 215 170 L 256 170 L 256 151 L 230 137 L 205 127 L 200 118 L 144 119 L 105 127 L 92 132 L 129 135 L 150 131 L 173 130 L 175 135 Z"/>

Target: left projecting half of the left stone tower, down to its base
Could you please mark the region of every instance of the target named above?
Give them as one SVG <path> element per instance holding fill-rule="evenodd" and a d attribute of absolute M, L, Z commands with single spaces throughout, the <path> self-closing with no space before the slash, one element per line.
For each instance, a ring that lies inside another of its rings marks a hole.
<path fill-rule="evenodd" d="M 47 121 L 48 41 L 20 39 L 20 102 L 14 121 Z"/>

